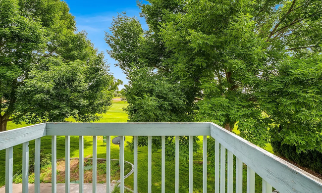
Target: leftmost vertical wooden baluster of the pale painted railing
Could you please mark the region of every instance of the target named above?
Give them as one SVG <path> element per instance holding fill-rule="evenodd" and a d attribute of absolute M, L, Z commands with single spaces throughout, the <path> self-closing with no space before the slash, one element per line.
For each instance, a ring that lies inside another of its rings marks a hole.
<path fill-rule="evenodd" d="M 5 193 L 12 193 L 13 147 L 5 149 Z"/>

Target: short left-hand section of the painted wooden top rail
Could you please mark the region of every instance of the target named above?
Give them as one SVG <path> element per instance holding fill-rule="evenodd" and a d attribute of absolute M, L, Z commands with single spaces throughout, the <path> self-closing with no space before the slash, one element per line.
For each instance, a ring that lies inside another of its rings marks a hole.
<path fill-rule="evenodd" d="M 46 136 L 46 123 L 3 131 L 0 134 L 0 150 Z"/>

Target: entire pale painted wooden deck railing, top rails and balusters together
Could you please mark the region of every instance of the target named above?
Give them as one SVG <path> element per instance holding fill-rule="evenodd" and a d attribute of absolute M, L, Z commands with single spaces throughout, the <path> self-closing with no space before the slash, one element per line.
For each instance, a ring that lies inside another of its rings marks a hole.
<path fill-rule="evenodd" d="M 137 186 L 137 137 L 148 136 L 148 193 L 152 189 L 152 136 L 161 137 L 161 193 L 165 193 L 165 137 L 175 136 L 175 193 L 179 193 L 179 136 L 189 136 L 189 193 L 193 187 L 193 136 L 203 137 L 203 193 L 207 193 L 207 136 L 215 139 L 215 193 L 233 193 L 233 155 L 236 157 L 236 193 L 242 193 L 243 163 L 247 165 L 247 193 L 255 193 L 255 173 L 263 178 L 263 193 L 272 187 L 280 193 L 322 193 L 322 181 L 266 150 L 224 130 L 214 123 L 42 123 L 0 133 L 5 155 L 5 193 L 12 193 L 13 146 L 23 144 L 22 192 L 28 193 L 29 141 L 35 140 L 35 193 L 40 193 L 41 137 L 52 136 L 52 193 L 56 193 L 56 136 L 65 140 L 65 192 L 69 193 L 70 137 L 79 136 L 79 192 L 84 189 L 84 138 L 93 136 L 93 193 L 97 183 L 97 137 L 134 136 L 134 193 Z M 120 138 L 120 188 L 124 193 L 124 139 Z M 220 147 L 220 148 L 219 148 Z M 220 150 L 220 152 L 219 152 Z M 226 151 L 227 150 L 227 151 Z M 227 160 L 226 160 L 227 152 Z M 110 143 L 107 143 L 107 182 L 110 181 Z M 227 167 L 226 167 L 227 164 Z M 227 168 L 227 176 L 226 176 Z M 2 168 L 0 168 L 2 169 Z M 222 175 L 223 174 L 223 175 Z M 227 184 L 226 184 L 227 178 Z M 108 185 L 108 183 L 107 183 Z M 227 187 L 227 190 L 225 190 Z M 106 192 L 110 189 L 107 186 Z"/>

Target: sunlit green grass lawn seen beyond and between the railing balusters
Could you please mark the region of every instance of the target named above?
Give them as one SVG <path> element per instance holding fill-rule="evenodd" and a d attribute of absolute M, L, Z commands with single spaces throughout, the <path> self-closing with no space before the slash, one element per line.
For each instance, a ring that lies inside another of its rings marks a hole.
<path fill-rule="evenodd" d="M 103 115 L 103 118 L 98 122 L 126 122 L 127 115 L 122 110 L 123 107 L 127 105 L 124 101 L 113 101 L 113 104 L 109 111 Z M 73 122 L 72 118 L 67 119 Z M 26 125 L 14 125 L 13 123 L 8 124 L 8 129 L 20 128 Z M 114 136 L 111 136 L 111 139 Z M 131 136 L 126 136 L 126 142 L 131 141 Z M 200 149 L 197 153 L 194 153 L 194 193 L 202 192 L 202 140 L 199 141 Z M 30 142 L 29 149 L 34 148 L 34 141 Z M 84 137 L 84 155 L 85 157 L 92 157 L 92 137 Z M 42 153 L 51 153 L 51 136 L 46 136 L 41 139 Z M 70 137 L 70 156 L 78 157 L 78 136 Z M 65 153 L 65 137 L 57 136 L 57 158 L 64 158 Z M 118 159 L 119 149 L 118 145 L 111 144 L 111 158 Z M 13 159 L 13 174 L 21 170 L 22 167 L 22 145 L 16 145 L 13 148 L 14 159 Z M 106 158 L 106 145 L 103 144 L 103 137 L 98 137 L 98 147 L 97 147 L 98 158 Z M 133 163 L 133 152 L 129 148 L 124 149 L 125 160 Z M 165 162 L 165 192 L 174 192 L 175 184 L 175 162 L 166 161 Z M 0 151 L 0 187 L 4 185 L 5 176 L 5 151 Z M 138 190 L 140 193 L 145 193 L 148 190 L 148 149 L 147 147 L 138 148 Z M 246 193 L 246 166 L 244 165 L 243 173 L 243 192 Z M 188 183 L 189 183 L 189 167 L 188 161 L 180 162 L 179 165 L 179 192 L 188 193 Z M 152 154 L 152 192 L 161 193 L 161 150 L 153 152 Z M 215 189 L 215 172 L 212 172 L 209 168 L 208 171 L 208 192 L 214 192 Z M 33 175 L 30 175 L 30 182 L 33 182 Z M 125 185 L 129 188 L 133 188 L 133 175 L 125 179 Z M 235 185 L 234 185 L 235 187 Z M 256 175 L 256 193 L 262 192 L 262 180 Z"/>

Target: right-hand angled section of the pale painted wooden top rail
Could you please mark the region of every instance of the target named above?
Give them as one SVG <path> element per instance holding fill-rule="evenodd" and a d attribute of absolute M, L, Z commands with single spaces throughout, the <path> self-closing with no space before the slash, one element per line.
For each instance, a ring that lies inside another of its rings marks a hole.
<path fill-rule="evenodd" d="M 211 123 L 211 136 L 281 193 L 317 193 L 322 180 Z"/>

